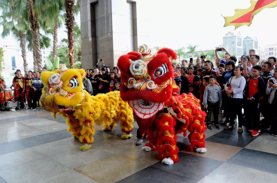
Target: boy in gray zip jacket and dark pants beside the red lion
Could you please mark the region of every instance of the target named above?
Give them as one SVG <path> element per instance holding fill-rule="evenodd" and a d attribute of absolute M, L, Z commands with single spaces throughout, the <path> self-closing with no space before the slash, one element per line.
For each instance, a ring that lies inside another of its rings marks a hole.
<path fill-rule="evenodd" d="M 222 96 L 221 96 L 221 88 L 216 85 L 216 76 L 209 76 L 210 84 L 206 86 L 203 103 L 204 109 L 207 109 L 206 123 L 207 129 L 212 130 L 211 128 L 211 116 L 214 113 L 214 128 L 219 129 L 218 126 L 218 115 L 219 115 L 219 107 L 222 105 Z"/>

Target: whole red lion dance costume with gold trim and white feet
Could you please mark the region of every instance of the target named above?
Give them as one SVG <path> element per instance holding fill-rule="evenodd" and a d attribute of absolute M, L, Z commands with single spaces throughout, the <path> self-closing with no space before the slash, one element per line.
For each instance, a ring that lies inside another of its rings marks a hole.
<path fill-rule="evenodd" d="M 120 56 L 117 65 L 123 81 L 120 96 L 133 108 L 142 135 L 147 129 L 149 142 L 143 149 L 158 150 L 162 163 L 172 165 L 179 161 L 176 134 L 183 132 L 185 137 L 188 130 L 190 150 L 206 152 L 206 113 L 191 93 L 177 94 L 179 88 L 170 62 L 170 58 L 177 58 L 176 53 L 162 48 L 154 55 L 147 45 L 141 45 L 139 51 Z M 172 107 L 177 117 L 185 119 L 186 123 L 176 121 L 167 112 L 168 107 Z"/>

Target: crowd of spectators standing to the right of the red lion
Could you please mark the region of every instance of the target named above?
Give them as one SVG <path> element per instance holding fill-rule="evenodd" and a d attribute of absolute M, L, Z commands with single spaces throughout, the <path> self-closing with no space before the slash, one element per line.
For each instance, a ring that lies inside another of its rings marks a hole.
<path fill-rule="evenodd" d="M 242 126 L 250 131 L 251 136 L 258 136 L 261 130 L 270 130 L 277 137 L 277 62 L 274 56 L 260 60 L 255 50 L 249 55 L 237 58 L 225 48 L 224 58 L 215 50 L 214 63 L 202 55 L 188 63 L 182 60 L 175 67 L 175 82 L 180 87 L 180 94 L 193 93 L 200 100 L 202 109 L 207 112 L 206 127 L 212 130 L 226 125 L 224 130 L 233 130 L 238 121 L 238 133 L 243 133 Z M 173 65 L 174 66 L 174 65 Z M 179 70 L 184 71 L 179 74 Z M 260 120 L 260 116 L 263 117 Z"/>

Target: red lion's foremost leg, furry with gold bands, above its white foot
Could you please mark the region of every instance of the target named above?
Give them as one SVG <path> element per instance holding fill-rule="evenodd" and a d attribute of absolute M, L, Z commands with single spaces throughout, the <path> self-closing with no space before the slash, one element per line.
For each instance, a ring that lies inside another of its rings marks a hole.
<path fill-rule="evenodd" d="M 178 147 L 176 146 L 177 136 L 175 133 L 176 120 L 170 114 L 161 113 L 157 117 L 157 135 L 159 158 L 164 160 L 170 157 L 173 162 L 178 162 Z"/>

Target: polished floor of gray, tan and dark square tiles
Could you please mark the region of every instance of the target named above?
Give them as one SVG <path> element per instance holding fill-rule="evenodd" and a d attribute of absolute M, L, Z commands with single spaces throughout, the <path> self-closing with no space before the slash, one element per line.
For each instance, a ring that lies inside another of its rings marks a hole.
<path fill-rule="evenodd" d="M 132 138 L 120 139 L 119 126 L 103 132 L 95 125 L 93 147 L 67 132 L 65 119 L 44 110 L 0 112 L 0 183 L 2 182 L 276 182 L 277 138 L 251 137 L 243 128 L 206 130 L 204 154 L 189 152 L 188 138 L 178 136 L 178 163 L 166 166 L 157 151 L 144 152 Z"/>

